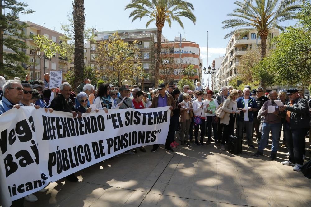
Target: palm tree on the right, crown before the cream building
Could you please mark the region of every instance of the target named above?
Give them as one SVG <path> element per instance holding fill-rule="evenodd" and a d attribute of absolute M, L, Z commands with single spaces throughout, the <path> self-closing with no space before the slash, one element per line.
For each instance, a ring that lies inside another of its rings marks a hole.
<path fill-rule="evenodd" d="M 284 4 L 284 1 L 291 1 L 289 4 Z M 282 11 L 278 10 L 278 0 L 244 0 L 243 2 L 234 2 L 238 8 L 234 9 L 233 13 L 227 14 L 235 18 L 223 21 L 223 29 L 236 28 L 238 26 L 248 27 L 250 30 L 257 30 L 260 35 L 261 42 L 261 59 L 266 56 L 267 36 L 269 30 L 278 28 L 284 30 L 280 25 L 281 22 L 295 18 L 296 11 L 301 5 L 295 5 L 293 0 L 284 0 L 279 4 L 283 6 Z M 232 34 L 239 32 L 238 29 L 231 31 L 225 35 L 225 39 Z M 245 33 L 245 32 L 244 32 Z M 264 80 L 260 81 L 262 87 L 265 86 Z"/>

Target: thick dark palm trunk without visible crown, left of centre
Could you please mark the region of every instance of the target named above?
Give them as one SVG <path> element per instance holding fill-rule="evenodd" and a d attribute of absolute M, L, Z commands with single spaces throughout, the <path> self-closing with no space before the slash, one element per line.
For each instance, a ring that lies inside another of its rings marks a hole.
<path fill-rule="evenodd" d="M 80 82 L 83 80 L 84 69 L 84 50 L 83 50 L 83 35 L 84 35 L 84 0 L 74 0 L 73 6 L 73 21 L 75 31 L 75 62 L 74 70 L 75 77 L 73 82 L 73 90 L 76 90 Z"/>

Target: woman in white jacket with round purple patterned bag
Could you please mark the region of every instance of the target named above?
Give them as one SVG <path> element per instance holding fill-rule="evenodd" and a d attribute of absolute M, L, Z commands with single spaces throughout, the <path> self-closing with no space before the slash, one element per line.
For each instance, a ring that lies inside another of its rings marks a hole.
<path fill-rule="evenodd" d="M 198 91 L 197 92 L 197 99 L 195 101 L 193 101 L 192 103 L 192 108 L 193 108 L 193 113 L 194 113 L 194 119 L 196 119 L 196 117 L 201 119 L 201 124 L 196 124 L 194 123 L 194 138 L 195 138 L 195 145 L 199 146 L 199 145 L 205 145 L 205 143 L 203 142 L 204 139 L 204 132 L 205 132 L 205 112 L 207 111 L 207 106 L 204 106 L 203 104 L 203 92 L 202 91 Z M 199 127 L 200 127 L 200 143 L 198 142 L 198 133 L 199 133 Z"/>

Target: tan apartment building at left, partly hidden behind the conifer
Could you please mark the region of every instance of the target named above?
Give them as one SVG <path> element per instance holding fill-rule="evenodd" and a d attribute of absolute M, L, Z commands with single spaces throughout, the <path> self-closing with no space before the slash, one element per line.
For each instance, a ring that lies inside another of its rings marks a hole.
<path fill-rule="evenodd" d="M 29 25 L 24 31 L 26 35 L 42 35 L 45 36 L 48 39 L 51 39 L 53 42 L 59 44 L 61 41 L 59 40 L 60 36 L 63 36 L 64 34 L 56 32 L 54 30 L 51 30 L 49 28 L 46 28 L 41 25 L 37 25 L 30 21 L 24 21 L 26 24 Z M 36 47 L 33 39 L 25 39 L 26 44 L 29 47 Z M 43 53 L 37 53 L 33 54 L 33 51 L 30 49 L 27 49 L 26 54 L 30 56 L 29 62 L 33 64 L 34 62 L 34 56 L 36 61 L 35 66 L 35 74 L 33 74 L 33 65 L 26 66 L 25 69 L 27 69 L 27 73 L 30 74 L 32 78 L 35 79 L 41 79 L 44 78 L 44 72 L 49 73 L 50 71 L 63 71 L 63 77 L 62 81 L 65 81 L 65 74 L 67 72 L 67 59 L 59 57 L 58 54 L 54 54 L 54 56 L 49 59 L 44 59 Z"/>

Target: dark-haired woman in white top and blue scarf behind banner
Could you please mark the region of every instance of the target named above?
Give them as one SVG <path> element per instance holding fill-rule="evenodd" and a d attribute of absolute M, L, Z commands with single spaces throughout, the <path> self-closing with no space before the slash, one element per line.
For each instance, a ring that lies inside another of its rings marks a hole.
<path fill-rule="evenodd" d="M 96 109 L 103 109 L 106 113 L 108 113 L 108 109 L 119 108 L 118 105 L 114 106 L 114 100 L 110 97 L 109 84 L 102 84 L 99 86 L 94 104 L 96 104 Z"/>

